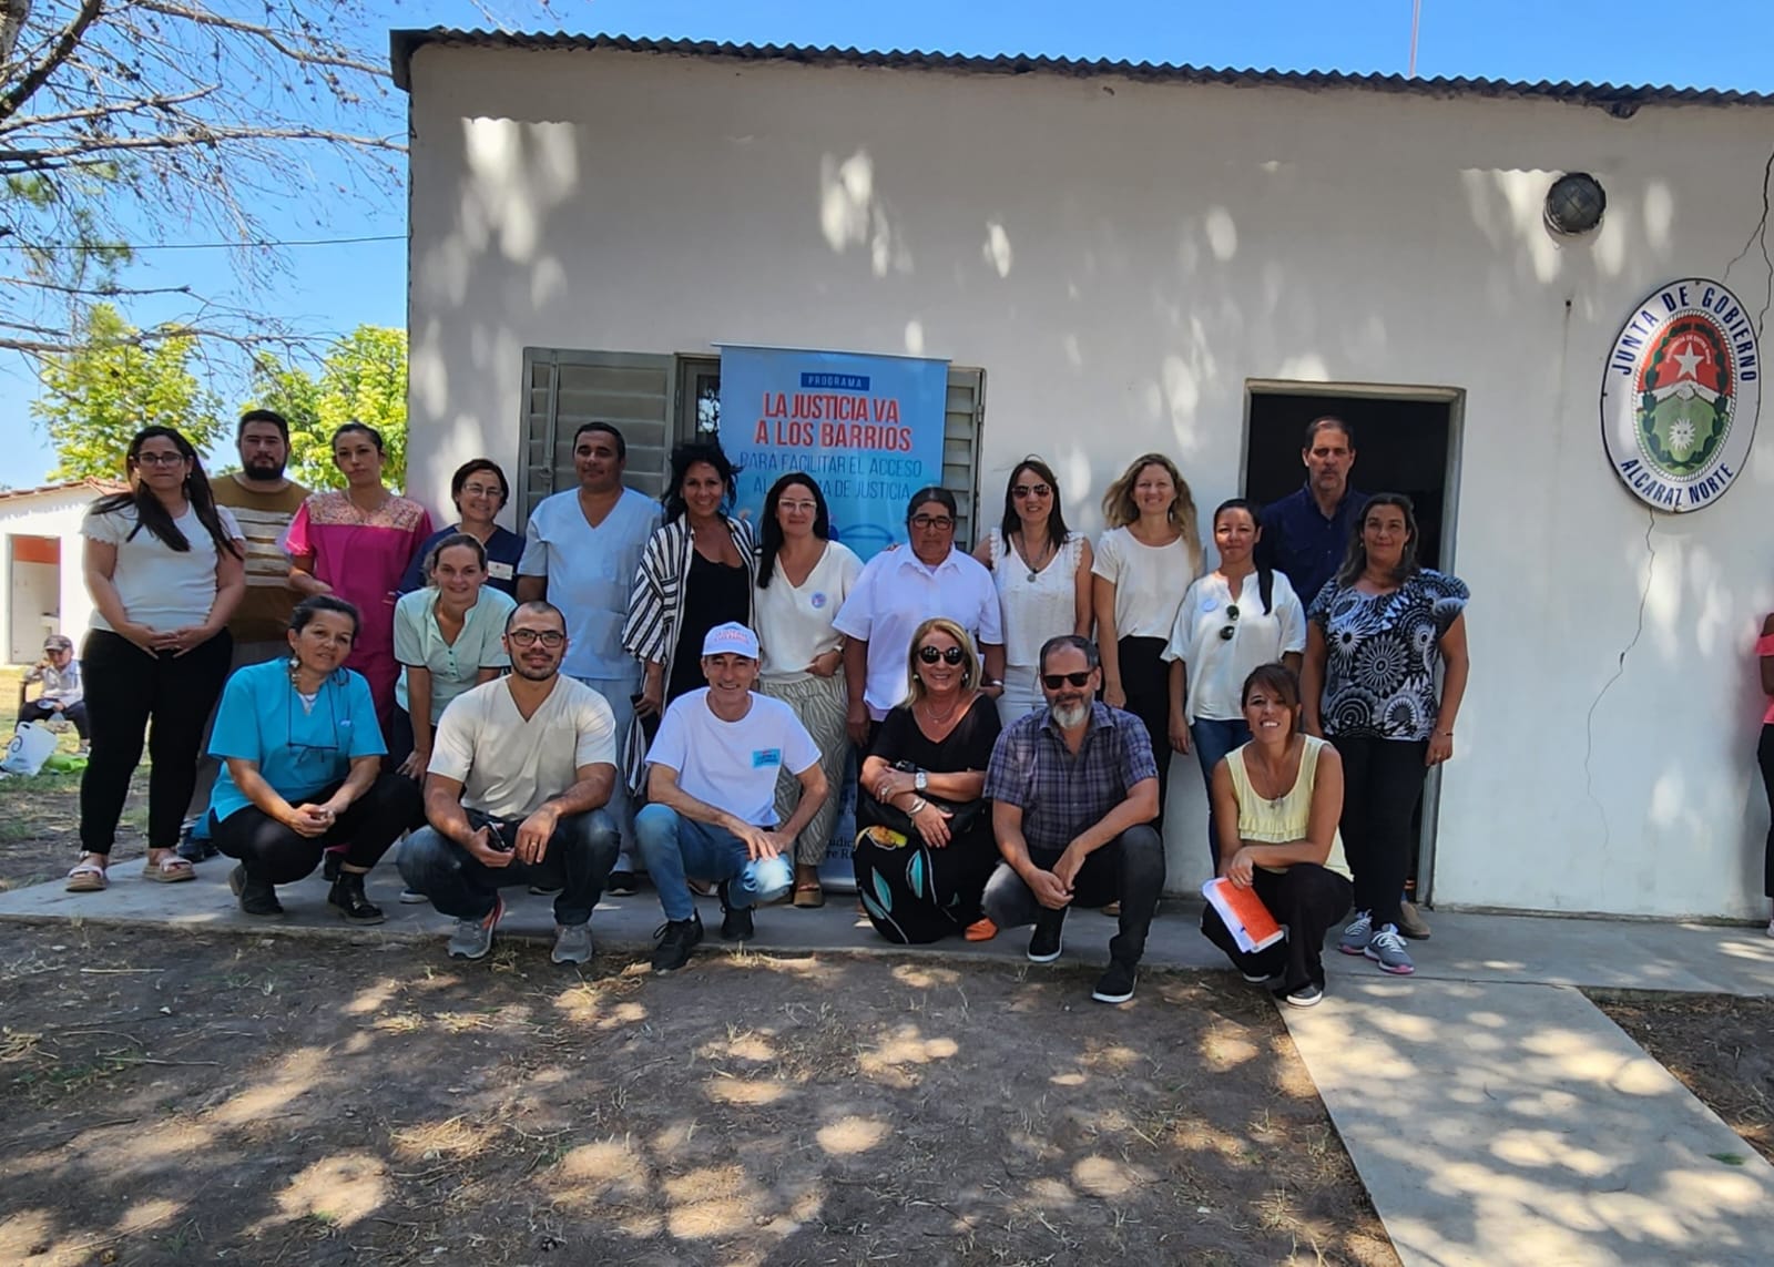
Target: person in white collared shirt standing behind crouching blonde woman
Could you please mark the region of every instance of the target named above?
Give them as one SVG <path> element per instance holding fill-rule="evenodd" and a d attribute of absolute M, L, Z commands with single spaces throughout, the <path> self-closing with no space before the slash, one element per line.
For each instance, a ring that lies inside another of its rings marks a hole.
<path fill-rule="evenodd" d="M 837 612 L 844 635 L 844 680 L 850 690 L 848 731 L 860 749 L 875 728 L 905 701 L 910 687 L 907 651 L 917 626 L 944 616 L 976 641 L 985 657 L 979 689 L 993 701 L 1004 692 L 1004 634 L 997 589 L 965 550 L 954 548 L 954 493 L 919 488 L 905 509 L 908 550 L 882 550 L 857 578 Z"/>

